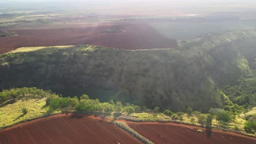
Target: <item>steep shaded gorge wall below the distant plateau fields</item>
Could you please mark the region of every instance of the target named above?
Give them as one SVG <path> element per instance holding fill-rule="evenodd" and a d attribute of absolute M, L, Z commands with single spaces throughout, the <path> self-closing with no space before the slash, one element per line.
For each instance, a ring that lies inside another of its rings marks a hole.
<path fill-rule="evenodd" d="M 241 31 L 183 40 L 176 50 L 22 48 L 0 55 L 0 87 L 83 89 L 104 100 L 207 111 L 222 105 L 219 87 L 250 73 L 255 41 L 256 32 Z"/>

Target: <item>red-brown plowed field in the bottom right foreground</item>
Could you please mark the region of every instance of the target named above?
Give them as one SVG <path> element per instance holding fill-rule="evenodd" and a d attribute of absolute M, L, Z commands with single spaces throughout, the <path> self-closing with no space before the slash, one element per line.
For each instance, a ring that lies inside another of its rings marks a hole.
<path fill-rule="evenodd" d="M 205 129 L 175 123 L 127 123 L 137 133 L 154 143 L 172 144 L 254 144 L 256 139 L 235 133 L 212 130 L 211 137 L 206 136 Z M 202 129 L 203 133 L 197 132 Z"/>

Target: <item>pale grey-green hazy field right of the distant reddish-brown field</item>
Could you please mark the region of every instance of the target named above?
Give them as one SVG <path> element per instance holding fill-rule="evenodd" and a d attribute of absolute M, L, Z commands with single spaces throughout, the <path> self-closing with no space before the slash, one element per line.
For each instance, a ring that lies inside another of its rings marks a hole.
<path fill-rule="evenodd" d="M 255 29 L 256 21 L 164 21 L 150 22 L 150 25 L 169 39 L 195 39 L 208 33 Z"/>

